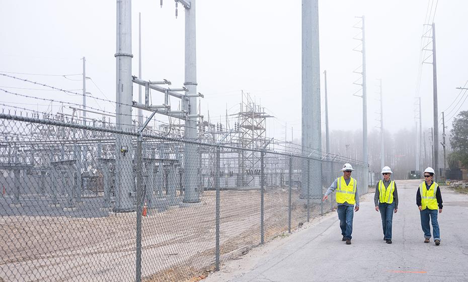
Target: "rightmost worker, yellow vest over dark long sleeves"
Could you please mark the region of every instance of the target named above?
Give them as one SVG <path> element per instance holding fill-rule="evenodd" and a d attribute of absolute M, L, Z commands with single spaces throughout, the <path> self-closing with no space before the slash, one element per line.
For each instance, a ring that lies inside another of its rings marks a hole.
<path fill-rule="evenodd" d="M 442 194 L 440 193 L 439 185 L 434 182 L 434 169 L 426 168 L 424 171 L 425 181 L 419 185 L 416 192 L 416 204 L 421 215 L 421 227 L 424 232 L 424 243 L 429 243 L 431 239 L 431 227 L 429 220 L 432 223 L 432 235 L 434 235 L 434 243 L 440 245 L 440 230 L 439 222 L 437 221 L 438 213 L 442 213 Z"/>

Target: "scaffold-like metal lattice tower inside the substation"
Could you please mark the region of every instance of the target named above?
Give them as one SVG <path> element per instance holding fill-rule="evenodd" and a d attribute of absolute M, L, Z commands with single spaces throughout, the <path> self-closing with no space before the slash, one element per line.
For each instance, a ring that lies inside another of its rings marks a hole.
<path fill-rule="evenodd" d="M 238 113 L 239 145 L 247 149 L 262 149 L 270 140 L 266 137 L 266 119 L 273 117 L 257 105 L 249 93 L 242 92 L 241 111 Z M 260 169 L 260 154 L 258 152 L 242 151 L 239 154 L 238 186 L 251 184 L 254 175 Z"/>

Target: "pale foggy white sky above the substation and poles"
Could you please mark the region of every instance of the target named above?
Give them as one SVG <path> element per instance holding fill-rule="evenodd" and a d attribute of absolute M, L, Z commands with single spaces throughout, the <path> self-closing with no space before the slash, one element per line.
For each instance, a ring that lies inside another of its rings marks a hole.
<path fill-rule="evenodd" d="M 132 73 L 138 74 L 138 12 L 141 12 L 143 79 L 165 78 L 172 81 L 172 87 L 179 87 L 184 82 L 184 11 L 179 5 L 179 18 L 175 19 L 174 1 L 164 0 L 162 9 L 159 3 L 132 1 Z M 369 132 L 379 125 L 375 120 L 379 110 L 377 79 L 382 79 L 383 84 L 385 129 L 396 132 L 414 127 L 414 97 L 427 5 L 427 0 L 319 1 L 321 89 L 323 92 L 323 70 L 327 69 L 331 130 L 362 129 L 362 100 L 352 96 L 359 89 L 352 84 L 358 78 L 352 71 L 361 64 L 360 53 L 352 51 L 358 45 L 352 38 L 359 33 L 352 26 L 357 23 L 355 16 L 362 15 L 366 17 Z M 1 6 L 0 71 L 81 74 L 81 58 L 86 56 L 87 76 L 104 94 L 91 81 L 87 82 L 87 90 L 95 97 L 115 101 L 115 1 L 3 0 Z M 268 123 L 269 136 L 284 138 L 287 122 L 287 138 L 291 137 L 290 126 L 294 127 L 294 138 L 297 138 L 301 112 L 301 2 L 197 0 L 196 6 L 197 90 L 205 95 L 201 99 L 205 120 L 209 107 L 211 122 L 220 119 L 224 122 L 226 104 L 229 114 L 237 112 L 241 90 L 244 90 L 275 116 Z M 468 80 L 466 11 L 468 2 L 465 1 L 438 2 L 434 22 L 439 111 L 445 110 L 458 95 L 455 87 L 463 86 Z M 424 64 L 422 70 L 420 95 L 423 129 L 427 129 L 432 126 L 432 65 Z M 14 76 L 81 93 L 81 76 L 68 77 L 77 81 Z M 37 88 L 4 77 L 0 77 L 0 86 Z M 80 96 L 54 91 L 7 90 L 82 102 Z M 49 104 L 1 95 L 0 101 L 17 107 L 42 111 Z M 153 102 L 157 96 L 153 94 Z M 137 100 L 137 87 L 134 87 L 133 100 Z M 88 105 L 115 111 L 112 103 L 97 105 L 88 99 Z M 461 110 L 466 105 L 468 102 Z M 54 108 L 54 112 L 57 110 L 58 107 Z M 165 116 L 158 119 L 168 122 Z M 450 123 L 451 120 L 447 125 Z"/>

